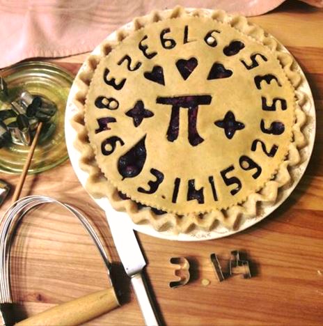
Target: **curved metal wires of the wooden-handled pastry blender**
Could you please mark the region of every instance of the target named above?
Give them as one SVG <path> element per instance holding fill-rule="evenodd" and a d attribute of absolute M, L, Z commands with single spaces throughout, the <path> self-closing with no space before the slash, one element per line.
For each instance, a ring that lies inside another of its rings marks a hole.
<path fill-rule="evenodd" d="M 100 255 L 104 261 L 104 265 L 107 267 L 109 280 L 113 286 L 110 274 L 111 263 L 109 262 L 109 258 L 106 252 L 104 251 L 104 247 L 100 241 L 100 238 L 98 238 L 95 230 L 88 222 L 88 219 L 76 208 L 67 203 L 62 203 L 61 201 L 57 201 L 56 199 L 52 199 L 47 196 L 26 196 L 11 205 L 0 220 L 0 304 L 13 302 L 10 289 L 9 257 L 10 244 L 12 243 L 15 229 L 17 228 L 19 221 L 24 217 L 24 215 L 39 205 L 45 203 L 55 203 L 57 205 L 61 205 L 61 207 L 65 208 L 71 212 L 72 215 L 79 219 L 84 228 L 86 228 L 86 231 L 88 231 L 90 237 L 93 239 L 97 249 L 99 250 Z"/>

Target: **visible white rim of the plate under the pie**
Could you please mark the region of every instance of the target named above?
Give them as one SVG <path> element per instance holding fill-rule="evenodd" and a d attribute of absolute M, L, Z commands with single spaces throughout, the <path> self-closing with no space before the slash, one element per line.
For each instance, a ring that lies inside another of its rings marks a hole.
<path fill-rule="evenodd" d="M 123 26 L 123 28 L 127 29 L 127 28 L 131 28 L 131 26 L 132 23 L 128 23 L 125 26 Z M 109 35 L 108 39 L 109 40 L 116 39 L 116 33 L 112 33 L 111 35 Z M 281 46 L 283 47 L 283 45 Z M 95 49 L 93 51 L 93 54 L 95 54 L 97 50 L 98 49 Z M 285 47 L 283 47 L 283 50 L 288 52 Z M 307 122 L 304 128 L 302 129 L 302 132 L 304 133 L 307 139 L 307 145 L 305 148 L 300 150 L 301 164 L 298 164 L 292 169 L 289 169 L 293 182 L 291 183 L 291 185 L 288 185 L 288 187 L 282 187 L 278 189 L 278 198 L 276 202 L 274 204 L 259 203 L 258 215 L 251 219 L 243 219 L 242 222 L 239 224 L 238 228 L 235 230 L 228 230 L 224 226 L 219 225 L 216 228 L 214 228 L 212 231 L 194 230 L 191 231 L 190 233 L 174 234 L 171 231 L 163 231 L 163 232 L 156 231 L 150 224 L 134 224 L 133 222 L 131 222 L 134 230 L 148 235 L 152 235 L 153 237 L 163 238 L 168 240 L 200 241 L 200 240 L 223 238 L 228 235 L 232 235 L 234 233 L 242 231 L 246 228 L 249 228 L 250 226 L 253 226 L 254 224 L 260 222 L 262 219 L 265 219 L 265 217 L 270 215 L 271 212 L 274 212 L 274 210 L 276 210 L 276 208 L 278 208 L 288 198 L 288 196 L 290 196 L 291 192 L 297 186 L 299 180 L 301 180 L 301 177 L 303 176 L 306 167 L 308 166 L 310 155 L 312 154 L 313 151 L 313 146 L 315 141 L 315 126 L 316 126 L 313 95 L 310 91 L 310 86 L 308 85 L 308 81 L 304 75 L 304 72 L 301 70 L 297 62 L 296 62 L 296 66 L 297 66 L 297 70 L 299 70 L 299 73 L 302 76 L 302 82 L 298 89 L 299 91 L 302 91 L 303 93 L 306 93 L 306 95 L 308 95 L 308 101 L 303 107 L 307 115 Z M 80 71 L 81 70 L 82 68 L 80 69 Z M 70 124 L 72 117 L 75 114 L 77 114 L 78 111 L 77 107 L 75 107 L 72 102 L 72 98 L 74 98 L 74 95 L 76 93 L 77 93 L 77 85 L 74 83 L 70 90 L 68 104 L 65 112 L 65 139 L 68 147 L 68 154 L 70 155 L 70 161 L 72 163 L 74 172 L 77 174 L 77 177 L 81 182 L 81 185 L 85 187 L 86 180 L 88 178 L 88 173 L 82 171 L 79 167 L 79 158 L 81 155 L 79 151 L 73 146 L 74 139 L 77 136 L 77 132 Z M 112 208 L 111 203 L 109 203 L 109 200 L 107 198 L 102 198 L 102 199 L 93 198 L 93 200 L 95 200 L 95 202 L 98 205 L 100 205 L 100 207 L 105 212 L 107 212 L 107 214 L 116 215 L 116 218 L 119 219 L 130 219 L 129 215 L 127 215 L 126 212 L 116 212 L 116 210 Z"/>

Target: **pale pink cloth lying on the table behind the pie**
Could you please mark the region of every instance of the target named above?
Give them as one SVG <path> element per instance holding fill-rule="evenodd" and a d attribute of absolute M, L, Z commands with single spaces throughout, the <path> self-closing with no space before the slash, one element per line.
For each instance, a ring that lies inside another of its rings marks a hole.
<path fill-rule="evenodd" d="M 284 0 L 0 0 L 0 68 L 33 57 L 92 51 L 109 33 L 153 9 L 220 8 L 261 15 Z M 323 6 L 323 0 L 303 0 Z"/>

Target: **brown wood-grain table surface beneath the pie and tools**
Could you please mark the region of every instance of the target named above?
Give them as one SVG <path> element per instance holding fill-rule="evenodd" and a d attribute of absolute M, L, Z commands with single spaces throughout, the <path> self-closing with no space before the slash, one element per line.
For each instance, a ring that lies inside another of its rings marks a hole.
<path fill-rule="evenodd" d="M 228 238 L 175 242 L 139 234 L 146 274 L 166 325 L 322 325 L 323 320 L 323 10 L 290 1 L 251 22 L 276 36 L 304 69 L 315 99 L 317 138 L 313 157 L 290 199 L 255 226 Z M 86 54 L 54 60 L 77 72 Z M 2 174 L 12 185 L 18 176 Z M 88 325 L 143 325 L 103 212 L 97 208 L 67 161 L 56 169 L 28 176 L 22 196 L 44 194 L 77 205 L 100 229 L 116 263 L 123 305 Z M 8 203 L 7 203 L 8 205 Z M 1 208 L 3 213 L 4 205 Z M 219 283 L 210 254 L 228 260 L 230 251 L 246 252 L 251 279 L 231 277 Z M 191 263 L 191 280 L 173 281 L 171 257 Z M 56 206 L 28 215 L 12 249 L 11 279 L 17 316 L 24 318 L 58 303 L 109 286 L 93 243 L 74 217 Z M 203 286 L 202 280 L 210 285 Z"/>

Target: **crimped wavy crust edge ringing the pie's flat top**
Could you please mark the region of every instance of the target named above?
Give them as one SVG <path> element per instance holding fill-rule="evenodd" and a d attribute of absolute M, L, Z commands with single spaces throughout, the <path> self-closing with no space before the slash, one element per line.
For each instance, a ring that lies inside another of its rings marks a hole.
<path fill-rule="evenodd" d="M 297 96 L 295 108 L 296 121 L 292 127 L 293 141 L 290 143 L 287 159 L 283 161 L 274 178 L 267 182 L 260 192 L 251 194 L 241 205 L 234 205 L 228 208 L 228 210 L 223 211 L 214 210 L 203 215 L 203 218 L 195 214 L 185 215 L 184 218 L 171 213 L 156 215 L 150 208 L 138 208 L 138 205 L 130 199 L 120 199 L 118 190 L 102 175 L 102 172 L 95 162 L 93 149 L 88 143 L 88 135 L 84 126 L 84 104 L 88 86 L 90 85 L 93 72 L 100 62 L 100 59 L 106 56 L 111 49 L 118 45 L 118 42 L 127 37 L 129 33 L 140 29 L 145 26 L 145 24 L 167 18 L 182 17 L 184 15 L 207 16 L 219 22 L 230 24 L 233 28 L 251 36 L 251 38 L 254 38 L 258 42 L 262 42 L 262 44 L 266 45 L 271 51 L 276 52 L 276 56 L 287 78 L 292 83 L 292 86 L 294 86 Z M 218 223 L 226 226 L 226 228 L 235 228 L 237 227 L 237 222 L 239 222 L 239 217 L 255 217 L 257 202 L 274 203 L 278 196 L 278 189 L 291 182 L 288 167 L 299 164 L 301 160 L 299 148 L 306 145 L 306 139 L 301 132 L 301 127 L 306 123 L 306 114 L 302 111 L 301 107 L 306 103 L 307 97 L 305 93 L 299 90 L 302 81 L 301 75 L 297 72 L 297 68 L 293 62 L 292 56 L 285 52 L 281 45 L 279 45 L 273 37 L 265 33 L 259 26 L 250 24 L 245 17 L 228 15 L 222 10 L 191 10 L 176 7 L 173 10 L 154 11 L 150 13 L 150 15 L 135 18 L 133 22 L 111 34 L 111 36 L 104 40 L 104 42 L 90 54 L 74 81 L 78 91 L 74 96 L 73 104 L 77 107 L 79 112 L 72 118 L 71 124 L 77 131 L 77 139 L 74 146 L 81 153 L 80 167 L 89 174 L 86 189 L 95 197 L 107 196 L 113 208 L 127 211 L 134 223 L 148 222 L 157 231 L 168 230 L 174 233 L 187 233 L 195 227 L 210 231 Z"/>

